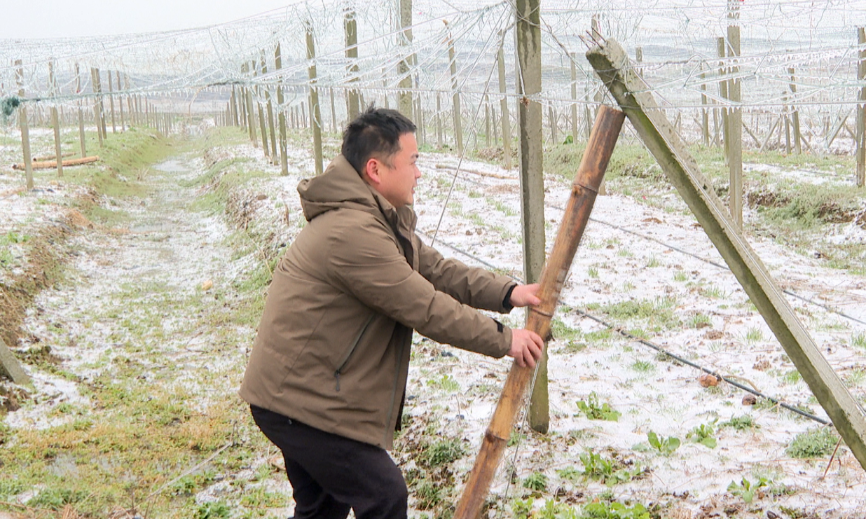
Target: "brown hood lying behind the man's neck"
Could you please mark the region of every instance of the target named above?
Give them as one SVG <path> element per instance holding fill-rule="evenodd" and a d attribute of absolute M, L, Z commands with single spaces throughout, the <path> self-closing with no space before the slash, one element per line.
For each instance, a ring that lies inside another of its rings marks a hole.
<path fill-rule="evenodd" d="M 384 197 L 364 182 L 342 155 L 334 158 L 322 175 L 302 180 L 298 184 L 298 193 L 307 221 L 337 208 L 354 208 L 374 214 L 381 211 L 385 215 L 395 211 Z"/>

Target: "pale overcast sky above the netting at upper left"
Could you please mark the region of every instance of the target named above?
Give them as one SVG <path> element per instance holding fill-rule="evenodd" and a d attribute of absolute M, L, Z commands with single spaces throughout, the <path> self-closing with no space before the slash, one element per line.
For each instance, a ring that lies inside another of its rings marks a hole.
<path fill-rule="evenodd" d="M 298 0 L 3 0 L 0 38 L 190 29 L 230 22 L 292 3 Z"/>

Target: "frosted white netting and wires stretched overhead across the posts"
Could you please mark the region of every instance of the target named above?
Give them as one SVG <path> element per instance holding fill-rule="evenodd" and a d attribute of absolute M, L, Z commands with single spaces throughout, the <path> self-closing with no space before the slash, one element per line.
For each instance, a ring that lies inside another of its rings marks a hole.
<path fill-rule="evenodd" d="M 357 25 L 357 59 L 346 55 L 348 17 Z M 729 26 L 739 28 L 740 55 L 732 55 L 733 46 L 726 40 L 721 43 L 725 56 L 720 57 L 719 38 L 728 35 Z M 700 131 L 700 112 L 711 105 L 742 106 L 744 123 L 754 131 L 762 116 L 769 121 L 798 110 L 806 138 L 829 145 L 830 132 L 856 108 L 864 86 L 857 77 L 859 54 L 866 50 L 858 43 L 857 29 L 863 26 L 863 0 L 626 0 L 606 7 L 588 1 L 542 2 L 543 79 L 536 97 L 545 106 L 548 127 L 559 127 L 563 135 L 574 131 L 574 123 L 588 128 L 583 107 L 610 100 L 585 60 L 585 42 L 615 38 L 662 106 L 679 114 L 681 128 Z M 313 35 L 312 59 L 307 58 L 308 31 Z M 280 70 L 275 67 L 278 45 Z M 416 0 L 405 28 L 398 0 L 293 3 L 199 29 L 0 40 L 0 93 L 10 97 L 23 89 L 27 103 L 77 106 L 78 99 L 93 98 L 90 70 L 98 68 L 102 93 L 111 87 L 121 98 L 174 99 L 178 109 L 223 111 L 232 85 L 259 86 L 253 93 L 260 100 L 265 87 L 272 91 L 281 86 L 286 97 L 277 108 L 288 109 L 307 102 L 309 88 L 316 86 L 320 93 L 337 97 L 334 114 L 344 120 L 346 92 L 359 90 L 366 104 L 396 106 L 397 93 L 408 88 L 431 114 L 449 111 L 457 91 L 462 115 L 472 122 L 483 103 L 492 103 L 495 111 L 501 99 L 496 70 L 500 48 L 507 97 L 516 102 L 520 71 L 514 57 L 514 2 Z M 20 78 L 16 60 L 21 61 Z M 49 80 L 49 63 L 54 63 L 56 85 Z M 311 80 L 313 64 L 316 77 Z M 108 71 L 114 73 L 112 85 Z M 741 81 L 740 102 L 721 94 L 724 82 L 732 78 Z M 323 106 L 326 102 L 320 100 Z M 576 117 L 571 111 L 575 104 L 581 106 Z M 329 110 L 322 112 L 323 118 L 331 117 Z"/>

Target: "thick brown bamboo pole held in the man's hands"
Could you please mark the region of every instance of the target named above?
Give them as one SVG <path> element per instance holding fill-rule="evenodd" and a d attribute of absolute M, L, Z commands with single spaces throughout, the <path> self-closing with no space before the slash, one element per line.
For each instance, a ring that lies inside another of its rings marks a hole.
<path fill-rule="evenodd" d="M 611 160 L 611 153 L 617 144 L 624 119 L 623 112 L 609 106 L 602 106 L 598 110 L 598 118 L 572 184 L 572 194 L 559 224 L 559 234 L 553 243 L 550 259 L 541 273 L 538 292 L 541 304 L 528 312 L 527 329 L 542 337 L 550 332 L 559 292 L 562 291 L 574 253 L 578 250 L 580 238 L 589 221 L 592 205 L 598 195 L 598 186 L 604 177 L 607 163 Z M 475 458 L 475 466 L 469 473 L 469 480 L 463 489 L 460 502 L 457 503 L 454 519 L 475 519 L 479 516 L 532 378 L 533 368 L 520 368 L 517 362 L 512 364 L 493 418 L 484 433 L 484 439 L 481 440 L 481 450 Z"/>

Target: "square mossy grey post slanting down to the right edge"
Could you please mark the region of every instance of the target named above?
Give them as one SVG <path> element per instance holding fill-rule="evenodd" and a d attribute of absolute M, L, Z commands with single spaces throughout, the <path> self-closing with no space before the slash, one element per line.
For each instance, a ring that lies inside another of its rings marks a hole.
<path fill-rule="evenodd" d="M 670 182 L 691 208 L 749 299 L 758 307 L 851 453 L 866 469 L 866 420 L 859 404 L 818 351 L 818 346 L 798 320 L 779 286 L 773 282 L 766 266 L 740 234 L 715 195 L 712 183 L 698 170 L 695 159 L 688 154 L 685 144 L 664 118 L 656 99 L 629 71 L 628 56 L 623 48 L 608 40 L 600 47 L 591 48 L 586 57 L 622 106 L 643 144 L 656 157 Z"/>

